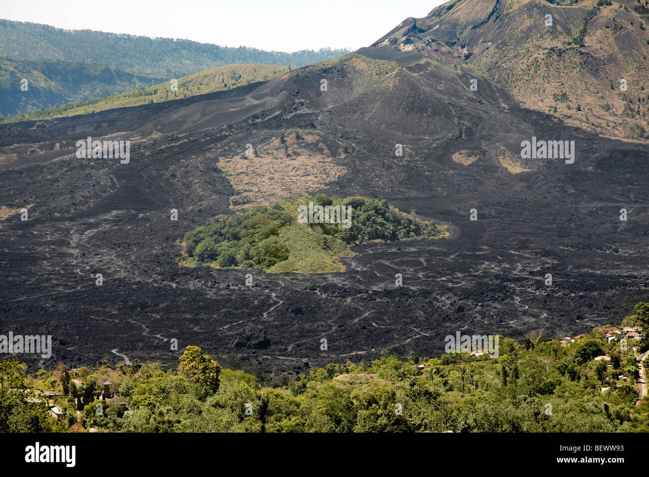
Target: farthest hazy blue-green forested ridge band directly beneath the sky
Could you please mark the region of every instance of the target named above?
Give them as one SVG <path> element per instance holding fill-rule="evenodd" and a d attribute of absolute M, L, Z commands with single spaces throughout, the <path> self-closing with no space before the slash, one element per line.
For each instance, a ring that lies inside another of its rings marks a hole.
<path fill-rule="evenodd" d="M 0 56 L 5 58 L 99 62 L 138 73 L 188 75 L 234 63 L 300 67 L 347 53 L 349 50 L 330 48 L 282 53 L 173 38 L 70 31 L 39 23 L 0 19 Z"/>

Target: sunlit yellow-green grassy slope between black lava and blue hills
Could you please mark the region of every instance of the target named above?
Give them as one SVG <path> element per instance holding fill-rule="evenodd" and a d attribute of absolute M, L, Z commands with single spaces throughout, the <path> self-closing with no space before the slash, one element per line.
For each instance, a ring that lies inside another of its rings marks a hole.
<path fill-rule="evenodd" d="M 0 64 L 2 64 L 2 60 L 0 60 Z M 126 106 L 160 103 L 161 101 L 186 98 L 197 94 L 229 90 L 254 81 L 269 80 L 288 70 L 287 66 L 258 64 L 219 66 L 176 79 L 177 90 L 172 90 L 171 80 L 167 80 L 127 93 L 88 99 L 79 103 L 69 103 L 55 108 L 6 117 L 0 119 L 0 123 L 53 119 L 55 117 L 75 116 L 76 114 L 89 114 L 107 109 L 124 108 Z"/>

